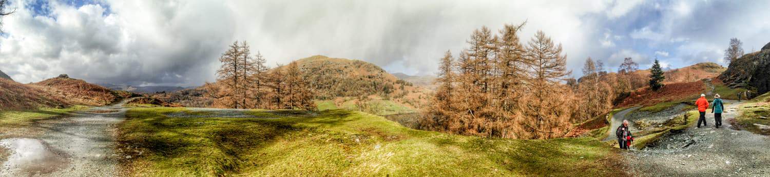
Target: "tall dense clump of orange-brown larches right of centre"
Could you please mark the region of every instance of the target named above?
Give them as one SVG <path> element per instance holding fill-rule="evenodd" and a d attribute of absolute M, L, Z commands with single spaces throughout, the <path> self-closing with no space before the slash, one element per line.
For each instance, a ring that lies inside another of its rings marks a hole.
<path fill-rule="evenodd" d="M 511 139 L 551 139 L 570 128 L 571 89 L 561 45 L 537 32 L 527 45 L 517 35 L 524 24 L 486 27 L 470 35 L 455 59 L 441 59 L 434 104 L 422 129 Z"/>

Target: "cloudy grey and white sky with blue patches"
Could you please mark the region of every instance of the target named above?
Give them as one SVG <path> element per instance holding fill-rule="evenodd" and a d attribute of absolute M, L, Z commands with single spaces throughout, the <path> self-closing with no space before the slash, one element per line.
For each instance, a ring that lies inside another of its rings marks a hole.
<path fill-rule="evenodd" d="M 246 40 L 271 65 L 310 55 L 355 58 L 389 72 L 431 75 L 475 28 L 527 21 L 564 45 L 574 76 L 591 57 L 616 68 L 722 61 L 770 42 L 770 1 L 11 0 L 0 70 L 18 82 L 59 74 L 89 82 L 201 85 L 227 45 Z"/>

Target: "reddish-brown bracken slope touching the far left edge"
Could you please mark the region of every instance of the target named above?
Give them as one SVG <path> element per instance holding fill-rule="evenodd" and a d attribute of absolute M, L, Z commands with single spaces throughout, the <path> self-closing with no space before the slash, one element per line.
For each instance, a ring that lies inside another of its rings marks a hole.
<path fill-rule="evenodd" d="M 0 110 L 35 109 L 40 106 L 65 107 L 68 105 L 61 97 L 50 95 L 39 87 L 0 78 Z"/>

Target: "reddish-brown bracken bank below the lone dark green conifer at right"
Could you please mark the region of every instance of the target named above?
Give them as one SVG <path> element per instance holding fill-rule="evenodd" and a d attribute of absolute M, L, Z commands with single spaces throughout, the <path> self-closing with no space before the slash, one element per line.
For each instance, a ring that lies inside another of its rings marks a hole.
<path fill-rule="evenodd" d="M 707 92 L 707 86 L 703 81 L 678 82 L 666 84 L 658 92 L 653 92 L 649 87 L 644 87 L 631 92 L 622 102 L 615 107 L 622 108 L 631 105 L 654 105 L 660 102 L 671 102 L 681 99 L 695 98 L 701 93 Z"/>

